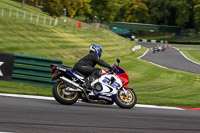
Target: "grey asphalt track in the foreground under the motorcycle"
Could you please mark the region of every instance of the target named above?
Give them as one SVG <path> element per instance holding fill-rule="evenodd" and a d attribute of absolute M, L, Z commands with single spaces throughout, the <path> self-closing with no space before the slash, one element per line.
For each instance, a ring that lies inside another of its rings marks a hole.
<path fill-rule="evenodd" d="M 0 96 L 0 132 L 199 133 L 200 112 Z"/>

